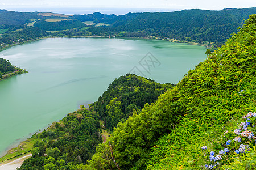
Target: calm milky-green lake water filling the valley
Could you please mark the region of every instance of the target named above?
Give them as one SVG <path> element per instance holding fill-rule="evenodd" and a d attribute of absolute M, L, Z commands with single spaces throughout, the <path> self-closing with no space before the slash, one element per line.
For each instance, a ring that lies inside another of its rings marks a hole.
<path fill-rule="evenodd" d="M 178 83 L 204 61 L 205 50 L 162 40 L 57 38 L 0 52 L 29 71 L 0 82 L 0 156 L 80 104 L 96 101 L 121 75 Z"/>

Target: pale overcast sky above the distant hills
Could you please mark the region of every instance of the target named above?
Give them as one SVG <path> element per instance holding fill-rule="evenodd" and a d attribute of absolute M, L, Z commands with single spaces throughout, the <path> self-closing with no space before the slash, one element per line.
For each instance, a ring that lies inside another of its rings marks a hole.
<path fill-rule="evenodd" d="M 222 10 L 256 7 L 255 0 L 0 0 L 1 9 L 34 8 L 165 8 Z"/>

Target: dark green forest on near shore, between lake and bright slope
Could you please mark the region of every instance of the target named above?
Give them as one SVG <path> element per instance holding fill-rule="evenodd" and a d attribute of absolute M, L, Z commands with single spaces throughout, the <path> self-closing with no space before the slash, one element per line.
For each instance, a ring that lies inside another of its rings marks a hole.
<path fill-rule="evenodd" d="M 118 122 L 125 122 L 133 112 L 141 111 L 146 103 L 154 102 L 173 87 L 134 74 L 115 79 L 89 109 L 82 107 L 69 113 L 54 124 L 53 130 L 36 135 L 41 142 L 35 143 L 32 158 L 20 169 L 88 168 L 87 160 L 92 159 L 96 146 L 102 143 L 100 120 L 104 120 L 110 132 Z"/>

